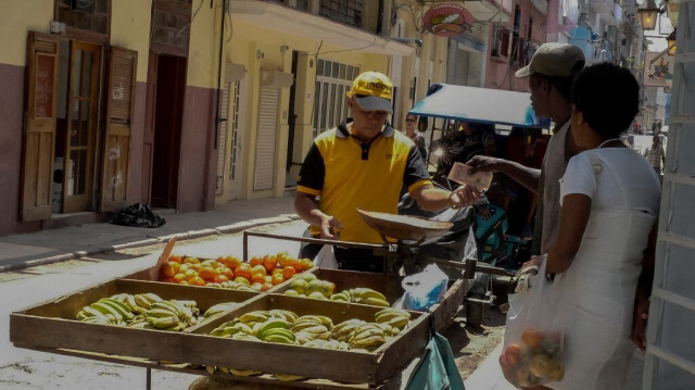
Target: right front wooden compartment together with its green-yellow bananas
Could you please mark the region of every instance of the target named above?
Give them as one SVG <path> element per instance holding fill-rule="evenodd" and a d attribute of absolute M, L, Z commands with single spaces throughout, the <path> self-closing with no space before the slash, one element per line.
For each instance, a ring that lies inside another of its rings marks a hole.
<path fill-rule="evenodd" d="M 197 327 L 192 334 L 200 339 L 186 347 L 201 356 L 212 348 L 225 351 L 192 362 L 211 374 L 379 383 L 421 354 L 428 316 L 270 293 Z M 299 355 L 302 364 L 294 364 Z"/>

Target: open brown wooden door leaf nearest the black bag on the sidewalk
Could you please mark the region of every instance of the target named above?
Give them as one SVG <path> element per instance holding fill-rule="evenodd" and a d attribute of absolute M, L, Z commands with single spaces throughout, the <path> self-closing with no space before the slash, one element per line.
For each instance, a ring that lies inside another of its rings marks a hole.
<path fill-rule="evenodd" d="M 101 211 L 126 205 L 138 53 L 112 47 L 109 56 Z"/>

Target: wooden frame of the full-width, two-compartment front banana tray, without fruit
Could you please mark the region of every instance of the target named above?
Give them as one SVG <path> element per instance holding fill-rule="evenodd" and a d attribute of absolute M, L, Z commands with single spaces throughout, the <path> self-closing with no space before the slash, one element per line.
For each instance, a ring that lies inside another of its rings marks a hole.
<path fill-rule="evenodd" d="M 164 299 L 194 300 L 201 310 L 219 302 L 243 302 L 238 309 L 182 332 L 88 324 L 77 312 L 115 293 L 154 292 Z M 124 364 L 153 362 L 230 366 L 263 373 L 302 375 L 348 383 L 378 385 L 421 355 L 430 336 L 429 315 L 413 312 L 413 323 L 374 353 L 232 340 L 207 334 L 219 324 L 255 310 L 285 309 L 299 315 L 323 314 L 336 324 L 349 318 L 374 320 L 381 307 L 262 294 L 217 288 L 115 279 L 10 316 L 10 340 L 17 348 L 81 355 Z M 111 355 L 113 358 L 110 358 Z M 129 356 L 129 357 L 125 357 Z"/>

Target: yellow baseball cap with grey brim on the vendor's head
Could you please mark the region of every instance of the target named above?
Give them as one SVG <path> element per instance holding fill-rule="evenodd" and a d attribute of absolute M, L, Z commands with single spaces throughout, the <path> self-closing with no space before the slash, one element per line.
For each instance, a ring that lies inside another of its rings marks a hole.
<path fill-rule="evenodd" d="M 365 111 L 386 111 L 393 114 L 391 108 L 391 91 L 393 83 L 379 72 L 364 72 L 352 81 L 349 97 L 356 97 L 357 104 Z"/>

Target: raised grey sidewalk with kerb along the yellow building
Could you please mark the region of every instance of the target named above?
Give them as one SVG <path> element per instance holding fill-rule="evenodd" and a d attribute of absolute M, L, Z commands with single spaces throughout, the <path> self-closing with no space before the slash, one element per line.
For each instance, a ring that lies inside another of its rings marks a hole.
<path fill-rule="evenodd" d="M 0 273 L 79 259 L 118 248 L 142 247 L 179 239 L 230 234 L 253 226 L 298 219 L 293 197 L 239 200 L 214 211 L 162 213 L 166 224 L 140 228 L 109 223 L 83 224 L 0 237 Z M 155 211 L 157 212 L 157 211 Z"/>

